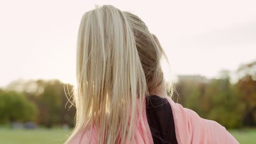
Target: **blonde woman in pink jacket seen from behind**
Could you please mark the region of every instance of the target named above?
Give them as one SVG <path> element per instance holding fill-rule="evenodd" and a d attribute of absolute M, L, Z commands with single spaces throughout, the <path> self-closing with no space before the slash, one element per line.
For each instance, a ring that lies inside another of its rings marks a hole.
<path fill-rule="evenodd" d="M 82 17 L 76 123 L 66 143 L 238 143 L 224 127 L 176 104 L 164 50 L 138 16 L 111 5 Z"/>

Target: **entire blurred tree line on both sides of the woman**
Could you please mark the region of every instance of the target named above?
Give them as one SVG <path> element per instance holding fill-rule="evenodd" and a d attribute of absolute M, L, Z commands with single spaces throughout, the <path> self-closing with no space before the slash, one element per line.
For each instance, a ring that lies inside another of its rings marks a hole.
<path fill-rule="evenodd" d="M 226 128 L 256 126 L 256 61 L 241 65 L 238 80 L 228 71 L 219 79 L 179 76 L 173 99 Z M 68 100 L 73 86 L 59 80 L 17 80 L 0 90 L 0 123 L 36 122 L 45 127 L 74 126 L 75 107 Z M 72 101 L 72 99 L 71 99 Z"/>

